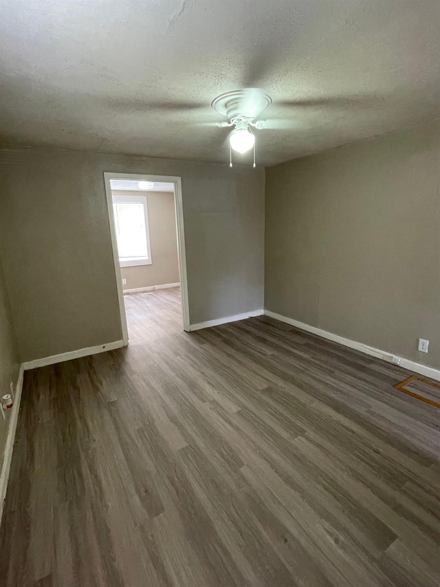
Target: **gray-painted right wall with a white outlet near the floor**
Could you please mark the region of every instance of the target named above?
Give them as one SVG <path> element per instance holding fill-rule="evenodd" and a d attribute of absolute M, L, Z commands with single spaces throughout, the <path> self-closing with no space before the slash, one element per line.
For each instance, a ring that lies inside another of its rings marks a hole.
<path fill-rule="evenodd" d="M 440 122 L 267 169 L 265 197 L 265 308 L 440 367 Z"/>

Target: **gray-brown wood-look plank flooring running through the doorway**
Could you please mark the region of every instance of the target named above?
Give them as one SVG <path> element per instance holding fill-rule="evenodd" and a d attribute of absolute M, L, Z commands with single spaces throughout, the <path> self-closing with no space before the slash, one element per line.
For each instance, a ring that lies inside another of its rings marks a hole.
<path fill-rule="evenodd" d="M 440 410 L 399 367 L 265 317 L 25 374 L 1 586 L 440 584 Z"/>

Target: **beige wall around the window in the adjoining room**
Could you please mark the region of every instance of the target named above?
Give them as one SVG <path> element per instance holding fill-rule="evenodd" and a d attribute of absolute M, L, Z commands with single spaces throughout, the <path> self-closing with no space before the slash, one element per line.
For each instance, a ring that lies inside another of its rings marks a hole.
<path fill-rule="evenodd" d="M 124 290 L 179 283 L 179 254 L 174 193 L 113 191 L 113 195 L 145 195 L 151 244 L 151 265 L 121 267 Z"/>

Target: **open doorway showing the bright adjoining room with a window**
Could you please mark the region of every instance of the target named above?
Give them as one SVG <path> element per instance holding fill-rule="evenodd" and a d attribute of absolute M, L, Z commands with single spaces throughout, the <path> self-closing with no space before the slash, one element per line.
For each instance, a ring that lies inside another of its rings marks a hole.
<path fill-rule="evenodd" d="M 106 172 L 104 182 L 124 345 L 189 331 L 181 179 Z"/>

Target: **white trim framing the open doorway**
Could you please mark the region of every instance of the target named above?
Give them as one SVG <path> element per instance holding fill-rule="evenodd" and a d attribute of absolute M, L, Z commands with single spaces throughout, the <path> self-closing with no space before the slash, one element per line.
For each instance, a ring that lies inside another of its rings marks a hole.
<path fill-rule="evenodd" d="M 111 233 L 111 248 L 113 249 L 113 263 L 115 266 L 116 286 L 118 288 L 118 302 L 122 328 L 122 341 L 124 343 L 124 346 L 128 345 L 129 343 L 129 332 L 126 325 L 124 290 L 122 289 L 122 279 L 118 256 L 118 243 L 116 241 L 115 221 L 113 217 L 113 200 L 111 197 L 110 180 L 138 180 L 142 182 L 162 182 L 174 184 L 177 248 L 179 250 L 179 274 L 181 286 L 182 317 L 184 322 L 184 330 L 186 330 L 186 332 L 189 332 L 190 312 L 188 306 L 188 277 L 186 274 L 184 204 L 181 193 L 181 178 L 175 177 L 173 175 L 149 175 L 144 173 L 111 173 L 110 171 L 106 171 L 104 172 L 105 193 L 107 197 L 107 211 L 109 215 L 109 226 Z"/>

